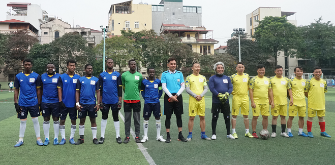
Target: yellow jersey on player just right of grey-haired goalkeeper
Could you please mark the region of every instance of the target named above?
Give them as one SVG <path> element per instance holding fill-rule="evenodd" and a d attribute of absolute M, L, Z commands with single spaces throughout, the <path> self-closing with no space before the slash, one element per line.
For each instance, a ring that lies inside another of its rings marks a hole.
<path fill-rule="evenodd" d="M 233 96 L 248 97 L 248 85 L 250 83 L 249 74 L 243 73 L 242 75 L 233 74 L 230 76 L 231 84 L 233 84 Z"/>

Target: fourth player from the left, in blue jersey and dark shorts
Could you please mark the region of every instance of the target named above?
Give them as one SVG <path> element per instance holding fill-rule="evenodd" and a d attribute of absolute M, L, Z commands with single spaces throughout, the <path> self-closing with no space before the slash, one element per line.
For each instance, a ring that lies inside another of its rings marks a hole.
<path fill-rule="evenodd" d="M 97 111 L 100 107 L 100 85 L 99 79 L 92 75 L 93 67 L 91 64 L 85 65 L 85 76 L 80 77 L 76 87 L 76 108 L 78 110 L 79 121 L 79 139 L 76 145 L 84 143 L 84 131 L 86 116 L 89 116 L 93 143 L 99 144 L 97 139 Z M 97 93 L 97 98 L 96 98 Z M 98 102 L 98 104 L 97 104 Z"/>

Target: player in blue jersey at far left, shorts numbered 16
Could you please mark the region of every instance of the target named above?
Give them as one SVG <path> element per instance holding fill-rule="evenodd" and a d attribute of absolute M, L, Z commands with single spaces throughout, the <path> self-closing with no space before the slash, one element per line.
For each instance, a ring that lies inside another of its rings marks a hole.
<path fill-rule="evenodd" d="M 41 115 L 39 108 L 39 103 L 41 103 L 41 76 L 33 72 L 32 67 L 32 60 L 23 60 L 24 71 L 16 74 L 14 80 L 14 105 L 17 112 L 17 118 L 21 120 L 19 141 L 14 145 L 14 147 L 23 145 L 28 112 L 30 113 L 34 123 L 34 130 L 37 138 L 36 143 L 39 146 L 43 146 L 43 142 L 40 137 L 40 124 L 38 120 L 38 116 Z"/>

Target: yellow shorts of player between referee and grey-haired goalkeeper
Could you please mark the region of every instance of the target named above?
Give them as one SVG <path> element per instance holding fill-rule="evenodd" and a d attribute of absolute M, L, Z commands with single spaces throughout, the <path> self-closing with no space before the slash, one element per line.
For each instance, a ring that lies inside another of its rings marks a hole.
<path fill-rule="evenodd" d="M 202 97 L 200 101 L 197 101 L 194 97 L 189 99 L 189 116 L 205 116 L 205 99 Z"/>

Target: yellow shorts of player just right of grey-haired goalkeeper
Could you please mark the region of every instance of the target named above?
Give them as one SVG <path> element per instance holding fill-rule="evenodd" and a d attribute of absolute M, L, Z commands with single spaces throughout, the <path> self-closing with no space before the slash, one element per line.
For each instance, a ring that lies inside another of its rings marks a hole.
<path fill-rule="evenodd" d="M 236 97 L 233 96 L 233 103 L 231 105 L 231 114 L 238 115 L 239 108 L 241 108 L 242 115 L 249 115 L 249 97 Z"/>

